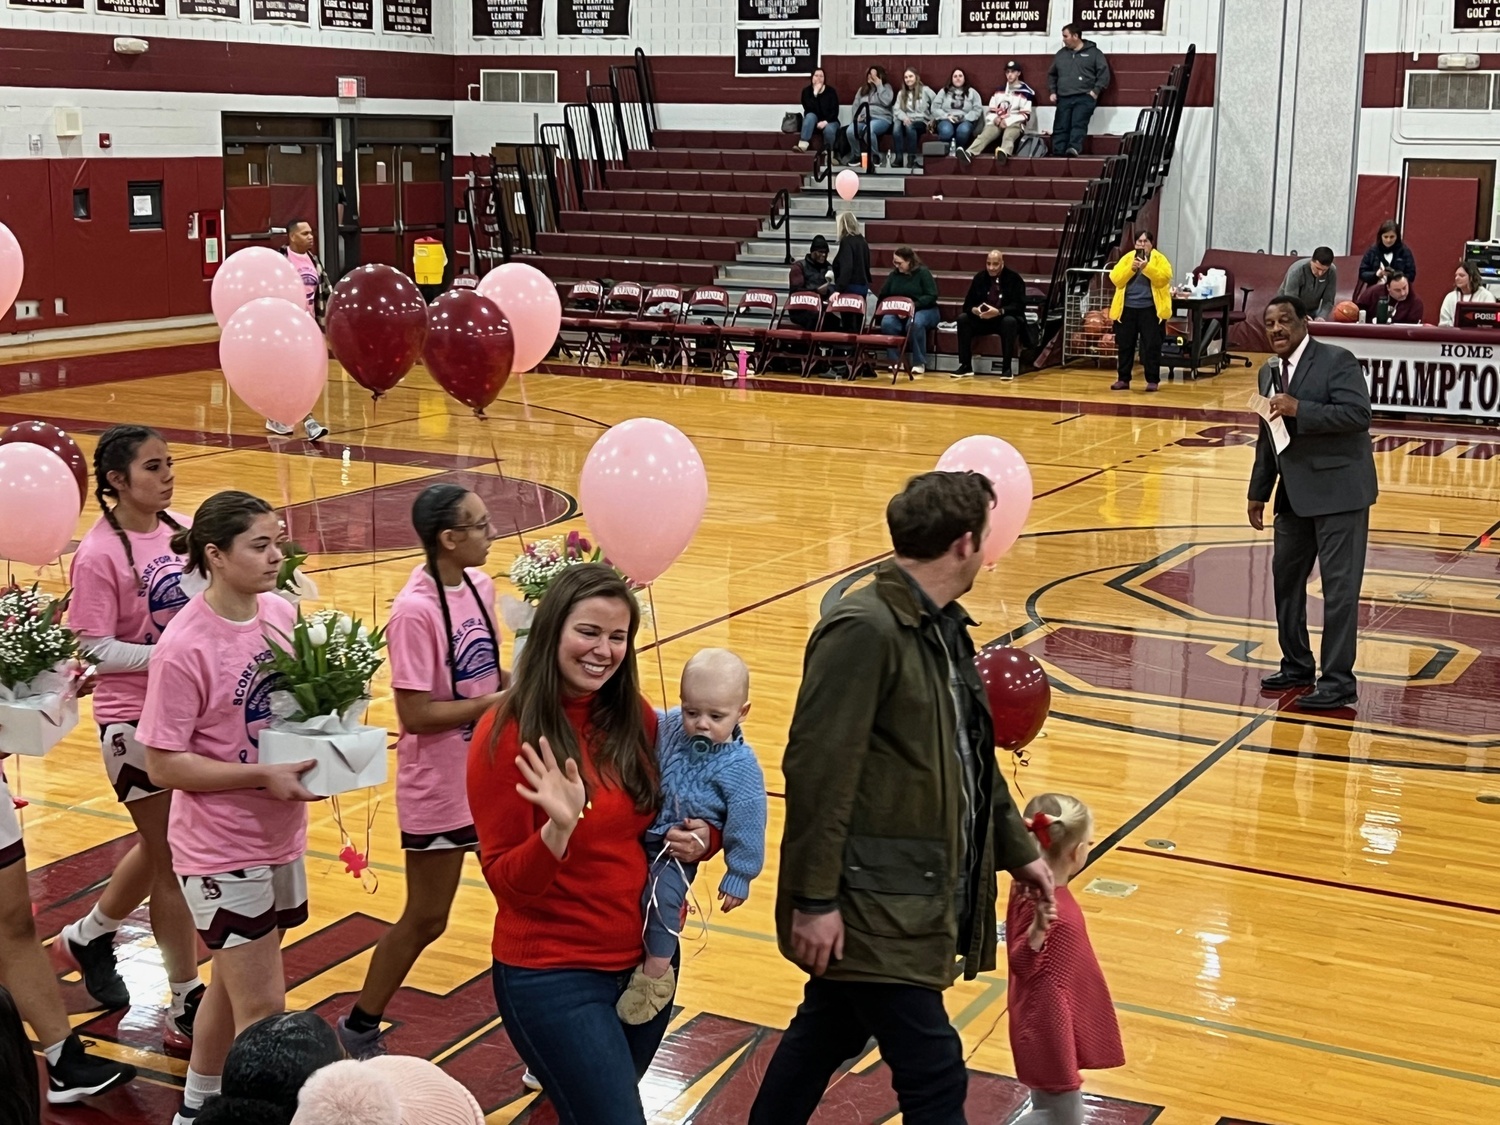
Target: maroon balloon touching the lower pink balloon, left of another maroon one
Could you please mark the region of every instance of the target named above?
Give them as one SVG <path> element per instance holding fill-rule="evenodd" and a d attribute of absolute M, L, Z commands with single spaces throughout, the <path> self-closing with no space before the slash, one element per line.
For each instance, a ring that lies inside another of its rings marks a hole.
<path fill-rule="evenodd" d="M 328 297 L 328 346 L 376 399 L 400 382 L 428 339 L 428 302 L 392 266 L 360 266 Z"/>

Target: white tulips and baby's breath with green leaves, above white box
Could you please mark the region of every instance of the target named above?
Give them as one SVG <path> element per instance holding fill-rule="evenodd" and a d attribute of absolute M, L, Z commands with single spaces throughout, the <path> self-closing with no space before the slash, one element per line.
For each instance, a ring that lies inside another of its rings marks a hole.
<path fill-rule="evenodd" d="M 370 680 L 386 663 L 386 630 L 370 632 L 358 618 L 338 609 L 312 616 L 297 612 L 291 636 L 267 636 L 272 656 L 261 664 L 278 676 L 272 714 L 288 723 L 320 716 L 344 716 L 369 699 Z M 278 640 L 278 638 L 280 638 Z"/>

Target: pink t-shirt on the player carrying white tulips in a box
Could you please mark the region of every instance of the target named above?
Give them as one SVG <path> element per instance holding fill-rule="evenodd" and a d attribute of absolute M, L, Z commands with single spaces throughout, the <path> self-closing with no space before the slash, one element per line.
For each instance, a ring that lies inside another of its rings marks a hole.
<path fill-rule="evenodd" d="M 276 594 L 260 596 L 252 621 L 225 621 L 202 594 L 189 600 L 156 646 L 136 738 L 216 762 L 260 762 L 274 688 L 274 676 L 258 670 L 272 654 L 266 634 L 290 634 L 296 621 Z M 308 806 L 258 789 L 177 792 L 166 836 L 177 874 L 285 864 L 308 850 Z"/>

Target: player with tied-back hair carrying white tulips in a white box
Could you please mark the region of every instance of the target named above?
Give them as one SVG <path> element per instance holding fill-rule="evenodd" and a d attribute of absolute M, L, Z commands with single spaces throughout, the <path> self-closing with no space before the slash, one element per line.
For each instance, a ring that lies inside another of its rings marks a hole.
<path fill-rule="evenodd" d="M 202 502 L 172 536 L 184 572 L 208 588 L 177 614 L 152 658 L 136 736 L 153 784 L 176 789 L 168 831 L 213 980 L 198 1008 L 183 1107 L 190 1122 L 219 1092 L 234 1036 L 285 1011 L 280 933 L 308 921 L 308 806 L 302 774 L 314 762 L 261 765 L 272 717 L 266 636 L 291 634 L 296 610 L 276 590 L 280 525 L 244 492 Z"/>

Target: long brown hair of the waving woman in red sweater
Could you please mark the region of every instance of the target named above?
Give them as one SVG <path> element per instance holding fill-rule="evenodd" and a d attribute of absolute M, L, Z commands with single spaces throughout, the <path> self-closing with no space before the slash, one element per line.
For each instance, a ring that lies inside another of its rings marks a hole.
<path fill-rule="evenodd" d="M 526 646 L 516 662 L 514 680 L 500 700 L 490 760 L 506 723 L 514 722 L 520 741 L 537 746 L 546 738 L 558 762 L 572 758 L 582 770 L 584 752 L 573 724 L 562 710 L 562 674 L 558 670 L 558 645 L 573 606 L 591 597 L 608 597 L 630 609 L 626 656 L 615 675 L 594 696 L 588 722 L 598 740 L 594 766 L 609 784 L 616 784 L 636 802 L 636 812 L 650 813 L 662 804 L 662 776 L 656 746 L 646 738 L 640 711 L 640 675 L 636 670 L 636 632 L 640 606 L 626 580 L 604 562 L 584 562 L 564 570 L 542 596 L 537 615 L 526 634 Z"/>

